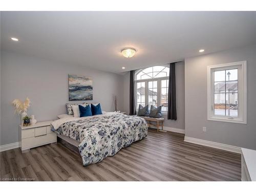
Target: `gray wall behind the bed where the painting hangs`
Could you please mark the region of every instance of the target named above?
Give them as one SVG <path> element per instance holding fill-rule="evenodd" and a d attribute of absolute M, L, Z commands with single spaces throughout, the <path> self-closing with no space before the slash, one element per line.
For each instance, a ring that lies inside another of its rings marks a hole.
<path fill-rule="evenodd" d="M 86 62 L 86 61 L 85 61 Z M 11 102 L 15 98 L 32 102 L 29 115 L 38 121 L 56 119 L 66 113 L 68 74 L 93 78 L 93 101 L 100 102 L 102 110 L 114 111 L 114 95 L 118 96 L 118 109 L 123 111 L 123 77 L 76 66 L 74 63 L 1 52 L 1 145 L 18 141 L 20 118 L 14 115 Z"/>

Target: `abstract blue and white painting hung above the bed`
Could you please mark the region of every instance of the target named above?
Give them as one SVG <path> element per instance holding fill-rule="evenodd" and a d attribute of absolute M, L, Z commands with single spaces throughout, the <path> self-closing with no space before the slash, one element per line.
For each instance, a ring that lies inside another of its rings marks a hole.
<path fill-rule="evenodd" d="M 92 78 L 69 74 L 69 100 L 93 100 Z"/>

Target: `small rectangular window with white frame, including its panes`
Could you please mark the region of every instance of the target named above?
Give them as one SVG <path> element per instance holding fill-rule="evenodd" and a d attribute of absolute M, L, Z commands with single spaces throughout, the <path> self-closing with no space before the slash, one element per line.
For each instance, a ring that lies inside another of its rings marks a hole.
<path fill-rule="evenodd" d="M 208 66 L 208 120 L 246 123 L 246 61 Z"/>

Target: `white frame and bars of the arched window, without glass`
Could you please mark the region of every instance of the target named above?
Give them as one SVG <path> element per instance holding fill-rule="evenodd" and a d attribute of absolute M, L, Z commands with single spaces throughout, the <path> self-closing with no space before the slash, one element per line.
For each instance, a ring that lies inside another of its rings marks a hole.
<path fill-rule="evenodd" d="M 167 66 L 167 65 L 158 65 L 158 66 L 167 67 L 169 69 L 169 66 Z M 156 66 L 152 66 L 152 67 L 156 67 Z M 136 75 L 145 69 L 147 69 L 147 68 L 137 70 L 135 72 L 135 79 L 136 79 Z M 138 112 L 138 109 L 137 109 L 137 82 L 145 82 L 145 105 L 147 105 L 148 104 L 148 82 L 157 81 L 157 105 L 160 106 L 161 105 L 161 93 L 162 93 L 161 80 L 169 80 L 169 76 L 148 78 L 148 79 L 139 79 L 139 80 L 134 81 L 135 82 L 135 90 L 136 90 L 135 91 L 136 112 Z M 169 87 L 168 87 L 168 89 L 169 89 Z M 167 114 L 167 113 L 168 113 L 168 107 L 167 107 L 167 111 L 162 111 L 162 114 Z"/>

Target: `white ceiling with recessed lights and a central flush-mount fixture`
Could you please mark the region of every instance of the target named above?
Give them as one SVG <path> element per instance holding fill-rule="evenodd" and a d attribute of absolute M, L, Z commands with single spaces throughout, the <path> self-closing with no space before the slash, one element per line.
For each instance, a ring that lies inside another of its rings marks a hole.
<path fill-rule="evenodd" d="M 1 13 L 2 50 L 114 73 L 252 44 L 256 12 Z"/>

